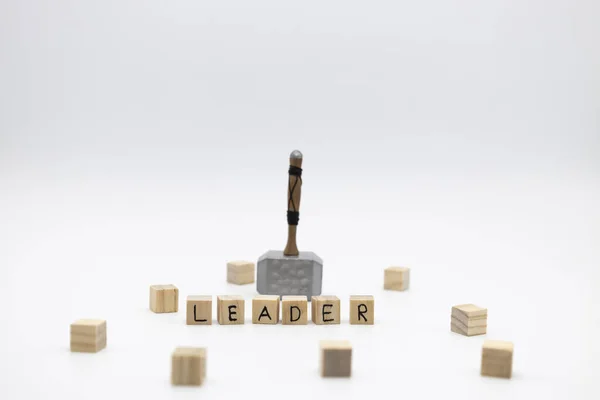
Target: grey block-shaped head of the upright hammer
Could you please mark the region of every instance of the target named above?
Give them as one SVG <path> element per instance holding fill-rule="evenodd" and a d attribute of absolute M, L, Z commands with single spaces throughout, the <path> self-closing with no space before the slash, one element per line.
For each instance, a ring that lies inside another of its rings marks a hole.
<path fill-rule="evenodd" d="M 268 251 L 258 259 L 256 289 L 260 294 L 311 296 L 321 294 L 323 260 L 315 253 L 301 251 L 284 256 L 283 251 Z"/>

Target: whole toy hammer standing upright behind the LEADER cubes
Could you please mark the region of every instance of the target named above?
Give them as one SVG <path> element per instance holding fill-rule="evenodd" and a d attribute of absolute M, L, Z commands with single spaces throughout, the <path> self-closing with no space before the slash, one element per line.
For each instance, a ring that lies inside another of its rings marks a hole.
<path fill-rule="evenodd" d="M 288 169 L 287 223 L 288 239 L 283 251 L 269 250 L 257 263 L 256 289 L 268 295 L 321 294 L 323 260 L 313 252 L 298 251 L 296 232 L 300 216 L 302 189 L 302 153 L 290 154 Z"/>

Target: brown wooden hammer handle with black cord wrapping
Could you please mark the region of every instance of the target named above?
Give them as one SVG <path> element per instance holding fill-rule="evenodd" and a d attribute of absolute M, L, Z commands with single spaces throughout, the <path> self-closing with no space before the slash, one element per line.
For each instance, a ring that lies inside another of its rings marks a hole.
<path fill-rule="evenodd" d="M 300 195 L 302 193 L 302 153 L 294 150 L 290 154 L 290 169 L 288 171 L 288 241 L 283 254 L 297 256 L 296 227 L 300 215 Z"/>

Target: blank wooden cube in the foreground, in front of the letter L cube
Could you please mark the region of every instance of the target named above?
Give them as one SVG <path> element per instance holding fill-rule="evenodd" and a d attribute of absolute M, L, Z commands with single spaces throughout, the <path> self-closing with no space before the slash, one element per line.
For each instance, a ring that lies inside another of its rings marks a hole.
<path fill-rule="evenodd" d="M 171 383 L 200 386 L 206 378 L 206 349 L 178 347 L 171 356 Z"/>

